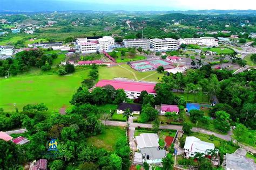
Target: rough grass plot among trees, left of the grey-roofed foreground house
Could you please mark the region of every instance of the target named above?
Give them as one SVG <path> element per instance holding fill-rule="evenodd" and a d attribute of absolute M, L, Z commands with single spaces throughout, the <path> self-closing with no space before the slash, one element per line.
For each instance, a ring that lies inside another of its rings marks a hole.
<path fill-rule="evenodd" d="M 125 137 L 125 128 L 119 126 L 105 126 L 101 134 L 87 139 L 89 145 L 114 151 L 114 145 L 120 137 Z"/>

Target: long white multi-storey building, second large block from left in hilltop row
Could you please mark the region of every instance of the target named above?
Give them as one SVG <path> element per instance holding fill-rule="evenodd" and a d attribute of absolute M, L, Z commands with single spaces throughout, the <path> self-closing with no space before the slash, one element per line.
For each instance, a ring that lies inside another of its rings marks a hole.
<path fill-rule="evenodd" d="M 139 48 L 150 49 L 150 39 L 126 39 L 123 40 L 125 48 Z"/>

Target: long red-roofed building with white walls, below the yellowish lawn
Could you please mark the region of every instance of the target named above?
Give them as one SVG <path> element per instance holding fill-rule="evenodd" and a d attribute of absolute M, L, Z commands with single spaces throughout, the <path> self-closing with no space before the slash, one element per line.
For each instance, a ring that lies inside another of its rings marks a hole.
<path fill-rule="evenodd" d="M 133 81 L 121 81 L 121 80 L 100 80 L 96 87 L 103 87 L 111 85 L 114 89 L 124 89 L 126 97 L 130 99 L 138 98 L 142 91 L 156 96 L 156 90 L 154 87 L 156 83 L 145 83 L 145 82 L 133 82 Z"/>

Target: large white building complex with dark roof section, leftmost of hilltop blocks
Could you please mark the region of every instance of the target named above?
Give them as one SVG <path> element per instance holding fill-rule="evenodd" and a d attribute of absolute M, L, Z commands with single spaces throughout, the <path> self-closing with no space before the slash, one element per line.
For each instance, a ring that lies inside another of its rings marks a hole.
<path fill-rule="evenodd" d="M 75 45 L 80 53 L 96 53 L 109 51 L 114 45 L 114 39 L 110 36 L 78 38 Z"/>

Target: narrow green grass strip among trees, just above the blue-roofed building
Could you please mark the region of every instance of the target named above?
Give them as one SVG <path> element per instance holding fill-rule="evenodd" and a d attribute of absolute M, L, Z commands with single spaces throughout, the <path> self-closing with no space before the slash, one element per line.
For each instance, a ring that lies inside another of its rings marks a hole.
<path fill-rule="evenodd" d="M 178 96 L 183 96 L 186 101 L 194 103 L 208 103 L 210 96 L 205 94 L 187 94 L 187 93 L 174 93 Z"/>

